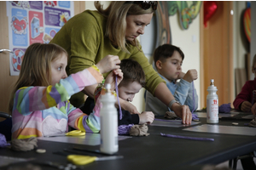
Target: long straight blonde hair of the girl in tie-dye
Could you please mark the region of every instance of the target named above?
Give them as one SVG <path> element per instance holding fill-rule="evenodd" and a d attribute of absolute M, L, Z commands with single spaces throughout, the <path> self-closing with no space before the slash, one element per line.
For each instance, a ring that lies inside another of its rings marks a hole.
<path fill-rule="evenodd" d="M 15 92 L 22 87 L 49 86 L 51 83 L 51 62 L 67 52 L 60 46 L 49 43 L 33 43 L 24 54 L 20 76 L 9 99 L 9 113 L 13 110 Z M 68 56 L 68 55 L 67 55 Z"/>

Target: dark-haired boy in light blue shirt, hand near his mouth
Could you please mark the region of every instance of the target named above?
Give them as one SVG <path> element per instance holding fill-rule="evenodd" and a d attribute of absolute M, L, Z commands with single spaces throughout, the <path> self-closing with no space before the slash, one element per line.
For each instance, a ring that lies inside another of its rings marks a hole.
<path fill-rule="evenodd" d="M 167 88 L 181 105 L 188 105 L 190 111 L 195 111 L 198 107 L 198 96 L 193 81 L 197 79 L 197 71 L 192 69 L 183 73 L 183 59 L 183 51 L 171 44 L 161 45 L 154 50 L 155 68 L 166 81 Z M 147 91 L 146 111 L 152 111 L 155 116 L 164 116 L 171 109 Z"/>

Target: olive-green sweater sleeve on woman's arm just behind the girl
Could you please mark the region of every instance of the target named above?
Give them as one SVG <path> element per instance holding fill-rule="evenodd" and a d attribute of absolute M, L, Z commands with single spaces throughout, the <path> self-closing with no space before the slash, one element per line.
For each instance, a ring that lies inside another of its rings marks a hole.
<path fill-rule="evenodd" d="M 104 26 L 102 25 L 105 20 L 103 20 L 103 16 L 98 15 L 98 17 L 102 17 L 99 20 L 92 13 L 96 12 L 85 10 L 83 13 L 73 16 L 51 40 L 51 43 L 61 45 L 68 52 L 68 75 L 83 71 L 102 59 L 102 57 L 96 56 L 102 39 L 104 39 L 102 31 Z"/>

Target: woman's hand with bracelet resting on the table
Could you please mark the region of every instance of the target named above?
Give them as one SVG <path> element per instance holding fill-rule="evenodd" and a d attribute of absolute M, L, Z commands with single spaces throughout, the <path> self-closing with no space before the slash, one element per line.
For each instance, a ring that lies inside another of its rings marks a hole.
<path fill-rule="evenodd" d="M 182 118 L 183 124 L 191 124 L 192 114 L 191 111 L 189 110 L 188 105 L 179 105 L 177 103 L 174 103 L 171 109 L 175 112 L 177 116 Z"/>

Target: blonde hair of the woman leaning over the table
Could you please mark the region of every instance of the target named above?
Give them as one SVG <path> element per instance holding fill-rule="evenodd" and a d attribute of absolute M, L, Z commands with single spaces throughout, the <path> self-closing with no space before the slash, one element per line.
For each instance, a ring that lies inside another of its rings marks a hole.
<path fill-rule="evenodd" d="M 139 15 L 139 14 L 152 14 L 154 10 L 152 7 L 143 9 L 139 5 L 126 1 L 112 1 L 108 8 L 103 9 L 101 3 L 96 1 L 96 9 L 107 18 L 106 37 L 110 39 L 114 46 L 121 48 L 126 53 L 130 54 L 126 48 L 127 42 L 125 40 L 126 30 L 126 16 Z M 135 38 L 131 43 L 133 46 L 138 47 L 137 39 Z"/>

